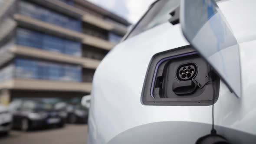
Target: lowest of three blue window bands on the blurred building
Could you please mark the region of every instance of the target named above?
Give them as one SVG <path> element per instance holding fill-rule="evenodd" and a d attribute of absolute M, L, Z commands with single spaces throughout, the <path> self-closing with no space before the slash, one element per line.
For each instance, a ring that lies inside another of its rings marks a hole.
<path fill-rule="evenodd" d="M 15 77 L 23 79 L 46 79 L 66 82 L 81 82 L 82 67 L 41 62 L 30 59 L 15 59 Z"/>

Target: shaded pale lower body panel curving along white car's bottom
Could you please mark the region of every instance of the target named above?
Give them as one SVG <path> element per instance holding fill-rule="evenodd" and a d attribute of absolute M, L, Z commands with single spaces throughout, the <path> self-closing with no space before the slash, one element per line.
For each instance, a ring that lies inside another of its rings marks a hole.
<path fill-rule="evenodd" d="M 209 127 L 211 124 L 187 121 L 162 121 L 144 124 L 118 134 L 108 144 L 194 144 L 198 137 L 209 133 Z M 175 131 L 172 131 L 173 129 Z M 225 132 L 233 137 L 232 139 L 227 137 L 232 144 L 254 144 L 256 140 L 255 135 L 246 132 L 220 126 L 217 126 L 216 129 L 225 129 Z"/>

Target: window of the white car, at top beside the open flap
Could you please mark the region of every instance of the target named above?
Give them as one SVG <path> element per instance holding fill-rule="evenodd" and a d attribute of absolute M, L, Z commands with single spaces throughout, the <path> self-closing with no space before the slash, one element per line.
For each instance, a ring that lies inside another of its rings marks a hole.
<path fill-rule="evenodd" d="M 180 0 L 158 0 L 141 18 L 141 20 L 131 30 L 127 38 L 136 36 L 148 29 L 167 22 L 171 18 L 171 12 L 180 5 Z M 171 25 L 171 23 L 170 23 Z"/>

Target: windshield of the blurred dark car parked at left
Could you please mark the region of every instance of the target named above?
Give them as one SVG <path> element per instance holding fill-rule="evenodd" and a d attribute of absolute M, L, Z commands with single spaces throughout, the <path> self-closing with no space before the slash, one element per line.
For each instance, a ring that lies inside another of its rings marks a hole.
<path fill-rule="evenodd" d="M 24 101 L 22 108 L 31 110 L 51 110 L 53 106 L 42 101 Z"/>

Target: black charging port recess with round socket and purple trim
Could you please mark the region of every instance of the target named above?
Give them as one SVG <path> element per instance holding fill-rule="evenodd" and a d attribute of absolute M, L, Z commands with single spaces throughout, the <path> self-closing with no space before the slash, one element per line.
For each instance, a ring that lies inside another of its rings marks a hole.
<path fill-rule="evenodd" d="M 153 56 L 141 95 L 144 105 L 212 105 L 220 79 L 189 46 Z"/>

